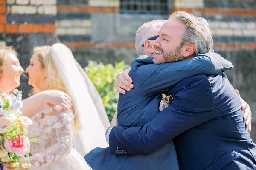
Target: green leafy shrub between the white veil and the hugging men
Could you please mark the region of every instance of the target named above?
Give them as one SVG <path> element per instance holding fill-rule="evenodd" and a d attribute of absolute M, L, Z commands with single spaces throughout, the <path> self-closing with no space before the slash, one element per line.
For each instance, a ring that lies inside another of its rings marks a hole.
<path fill-rule="evenodd" d="M 116 75 L 128 67 L 129 65 L 125 65 L 123 61 L 116 62 L 114 66 L 111 64 L 104 65 L 102 62 L 98 64 L 94 61 L 88 61 L 87 67 L 84 68 L 86 74 L 99 91 L 109 121 L 112 120 L 116 112 L 119 95 L 115 90 Z"/>

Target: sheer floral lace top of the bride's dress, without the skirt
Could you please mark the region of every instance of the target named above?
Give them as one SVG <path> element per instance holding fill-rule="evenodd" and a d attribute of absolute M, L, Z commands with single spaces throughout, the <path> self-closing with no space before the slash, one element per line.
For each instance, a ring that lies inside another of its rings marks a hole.
<path fill-rule="evenodd" d="M 30 142 L 32 156 L 28 157 L 31 168 L 51 164 L 70 153 L 72 147 L 73 112 L 56 105 L 46 105 L 32 117 L 33 126 L 29 136 L 37 140 Z"/>

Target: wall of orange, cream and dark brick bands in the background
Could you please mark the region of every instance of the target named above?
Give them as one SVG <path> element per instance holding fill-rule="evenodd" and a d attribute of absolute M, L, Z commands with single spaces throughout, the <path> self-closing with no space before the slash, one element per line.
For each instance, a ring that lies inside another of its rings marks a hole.
<path fill-rule="evenodd" d="M 136 30 L 153 19 L 187 11 L 209 20 L 214 50 L 235 65 L 226 74 L 253 111 L 256 140 L 256 1 L 167 0 L 169 14 L 120 14 L 119 0 L 0 0 L 0 44 L 14 45 L 23 68 L 37 45 L 62 42 L 78 62 L 130 64 L 137 58 Z M 20 89 L 29 87 L 22 79 Z M 26 95 L 25 95 L 26 97 Z"/>

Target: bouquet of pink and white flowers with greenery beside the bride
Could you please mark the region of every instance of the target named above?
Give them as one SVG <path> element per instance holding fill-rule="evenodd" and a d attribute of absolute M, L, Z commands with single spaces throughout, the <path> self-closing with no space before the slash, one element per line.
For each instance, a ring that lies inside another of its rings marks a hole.
<path fill-rule="evenodd" d="M 19 166 L 20 157 L 29 156 L 26 133 L 32 120 L 22 116 L 21 97 L 21 91 L 17 89 L 13 94 L 0 94 L 0 163 L 10 162 L 14 168 Z M 30 164 L 24 163 L 22 167 L 27 169 Z"/>

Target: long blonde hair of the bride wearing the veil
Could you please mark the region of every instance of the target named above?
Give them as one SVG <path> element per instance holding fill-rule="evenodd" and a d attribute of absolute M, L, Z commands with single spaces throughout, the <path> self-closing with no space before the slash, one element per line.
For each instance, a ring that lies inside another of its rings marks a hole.
<path fill-rule="evenodd" d="M 38 60 L 41 63 L 42 68 L 46 68 L 46 74 L 44 77 L 41 77 L 40 79 L 40 87 L 43 90 L 60 90 L 67 93 L 67 90 L 65 88 L 65 85 L 61 79 L 61 76 L 58 73 L 58 70 L 55 66 L 55 63 L 52 59 L 52 56 L 50 54 L 50 51 L 52 49 L 52 46 L 38 46 L 34 48 L 34 53 L 38 54 Z M 38 93 L 35 91 L 35 89 L 32 91 L 32 94 Z M 77 120 L 77 116 L 74 111 L 75 119 L 74 119 L 74 126 L 76 130 L 81 129 L 81 125 L 79 121 Z"/>

